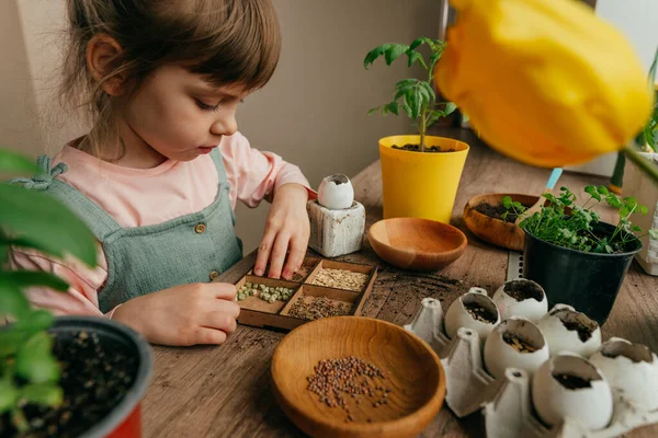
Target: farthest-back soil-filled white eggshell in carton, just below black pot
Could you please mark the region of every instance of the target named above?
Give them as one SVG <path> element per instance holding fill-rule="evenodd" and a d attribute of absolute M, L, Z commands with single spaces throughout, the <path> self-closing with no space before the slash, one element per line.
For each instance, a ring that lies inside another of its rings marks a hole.
<path fill-rule="evenodd" d="M 524 316 L 536 323 L 548 311 L 544 289 L 525 278 L 507 281 L 494 293 L 492 300 L 503 320 Z"/>

